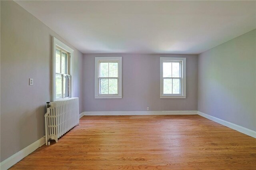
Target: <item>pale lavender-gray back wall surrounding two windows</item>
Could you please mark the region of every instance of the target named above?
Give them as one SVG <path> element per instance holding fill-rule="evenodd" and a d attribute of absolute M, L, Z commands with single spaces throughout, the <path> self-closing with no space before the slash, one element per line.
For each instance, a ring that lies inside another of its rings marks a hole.
<path fill-rule="evenodd" d="M 94 59 L 122 57 L 122 99 L 94 99 Z M 186 57 L 186 99 L 160 99 L 160 57 Z M 84 54 L 84 111 L 197 110 L 197 55 Z"/>

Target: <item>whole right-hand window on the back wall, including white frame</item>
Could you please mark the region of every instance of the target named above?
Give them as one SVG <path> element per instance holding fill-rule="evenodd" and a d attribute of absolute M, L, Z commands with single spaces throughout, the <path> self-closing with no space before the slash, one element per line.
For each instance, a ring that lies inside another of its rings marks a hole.
<path fill-rule="evenodd" d="M 160 57 L 160 98 L 186 98 L 186 58 Z"/>

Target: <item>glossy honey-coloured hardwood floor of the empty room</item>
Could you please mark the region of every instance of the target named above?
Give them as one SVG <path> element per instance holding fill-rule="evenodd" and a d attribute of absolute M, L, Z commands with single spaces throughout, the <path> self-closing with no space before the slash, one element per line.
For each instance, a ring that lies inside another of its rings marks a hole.
<path fill-rule="evenodd" d="M 256 169 L 256 139 L 199 115 L 84 116 L 11 169 Z"/>

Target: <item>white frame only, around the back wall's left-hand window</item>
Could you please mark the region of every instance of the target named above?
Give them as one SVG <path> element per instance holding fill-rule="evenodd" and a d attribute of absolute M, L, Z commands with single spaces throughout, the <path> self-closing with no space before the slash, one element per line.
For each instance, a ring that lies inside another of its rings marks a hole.
<path fill-rule="evenodd" d="M 118 62 L 118 94 L 99 94 L 99 63 L 100 61 Z M 122 99 L 122 57 L 95 57 L 95 99 Z"/>

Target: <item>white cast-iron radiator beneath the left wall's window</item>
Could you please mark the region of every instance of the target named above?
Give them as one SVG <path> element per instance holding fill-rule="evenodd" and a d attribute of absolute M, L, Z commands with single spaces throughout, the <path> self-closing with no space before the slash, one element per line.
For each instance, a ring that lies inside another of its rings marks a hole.
<path fill-rule="evenodd" d="M 47 102 L 47 112 L 44 118 L 46 145 L 50 145 L 50 140 L 58 142 L 60 136 L 79 125 L 78 98 Z"/>

